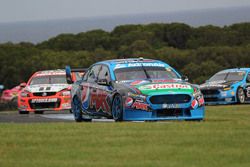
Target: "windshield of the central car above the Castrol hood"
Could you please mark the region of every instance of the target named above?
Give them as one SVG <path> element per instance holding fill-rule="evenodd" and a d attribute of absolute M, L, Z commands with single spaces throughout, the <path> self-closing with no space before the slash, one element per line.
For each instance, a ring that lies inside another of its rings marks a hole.
<path fill-rule="evenodd" d="M 147 76 L 148 75 L 148 76 Z M 176 72 L 165 67 L 130 67 L 115 70 L 117 81 L 136 79 L 179 79 Z"/>

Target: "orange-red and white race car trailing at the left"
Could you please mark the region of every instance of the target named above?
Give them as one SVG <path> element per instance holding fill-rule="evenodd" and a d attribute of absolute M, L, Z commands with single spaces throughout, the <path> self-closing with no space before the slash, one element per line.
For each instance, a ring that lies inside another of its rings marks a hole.
<path fill-rule="evenodd" d="M 71 76 L 77 80 L 76 73 Z M 71 85 L 67 84 L 65 70 L 38 71 L 31 76 L 26 87 L 18 94 L 20 114 L 45 110 L 70 110 Z"/>

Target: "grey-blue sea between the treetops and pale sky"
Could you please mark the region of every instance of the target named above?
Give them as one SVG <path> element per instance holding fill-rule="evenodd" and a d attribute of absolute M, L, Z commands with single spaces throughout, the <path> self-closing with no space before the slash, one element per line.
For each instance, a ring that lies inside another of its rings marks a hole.
<path fill-rule="evenodd" d="M 42 21 L 19 21 L 0 23 L 0 43 L 31 42 L 36 44 L 63 33 L 77 34 L 95 29 L 102 29 L 109 32 L 116 26 L 126 24 L 178 22 L 191 27 L 205 25 L 223 27 L 249 21 L 250 6 Z"/>

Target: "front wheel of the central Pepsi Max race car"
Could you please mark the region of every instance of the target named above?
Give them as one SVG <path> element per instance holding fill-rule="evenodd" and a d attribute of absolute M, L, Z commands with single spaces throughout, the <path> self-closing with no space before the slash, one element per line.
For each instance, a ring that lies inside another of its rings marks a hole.
<path fill-rule="evenodd" d="M 112 103 L 112 116 L 115 121 L 123 120 L 123 103 L 121 95 L 116 95 Z"/>

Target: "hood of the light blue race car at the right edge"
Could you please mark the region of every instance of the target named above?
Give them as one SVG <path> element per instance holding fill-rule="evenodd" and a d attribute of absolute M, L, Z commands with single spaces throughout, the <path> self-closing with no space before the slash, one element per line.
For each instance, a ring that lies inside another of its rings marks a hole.
<path fill-rule="evenodd" d="M 211 81 L 200 85 L 200 89 L 223 89 L 226 87 L 231 87 L 238 81 Z"/>

